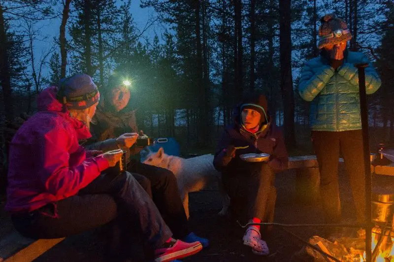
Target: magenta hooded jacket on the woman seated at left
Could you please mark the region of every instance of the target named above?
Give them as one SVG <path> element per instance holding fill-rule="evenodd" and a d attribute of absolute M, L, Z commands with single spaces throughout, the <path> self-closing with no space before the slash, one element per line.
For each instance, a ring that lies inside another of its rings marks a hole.
<path fill-rule="evenodd" d="M 87 158 L 78 140 L 91 134 L 69 116 L 54 86 L 37 98 L 38 112 L 15 134 L 9 149 L 7 203 L 11 214 L 27 213 L 78 191 L 108 168 L 102 156 Z"/>

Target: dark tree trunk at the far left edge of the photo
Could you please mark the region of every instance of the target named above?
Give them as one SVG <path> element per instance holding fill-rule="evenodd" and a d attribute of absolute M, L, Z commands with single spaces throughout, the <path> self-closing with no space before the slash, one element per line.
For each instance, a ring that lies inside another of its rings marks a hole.
<path fill-rule="evenodd" d="M 5 30 L 3 8 L 0 3 L 0 83 L 3 93 L 5 119 L 14 118 L 14 108 L 11 90 L 11 68 L 8 60 L 8 40 Z"/>

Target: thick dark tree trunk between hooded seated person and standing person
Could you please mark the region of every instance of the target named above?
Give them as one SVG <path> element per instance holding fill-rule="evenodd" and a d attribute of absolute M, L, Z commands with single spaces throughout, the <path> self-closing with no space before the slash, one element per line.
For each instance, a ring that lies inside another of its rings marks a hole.
<path fill-rule="evenodd" d="M 296 145 L 292 76 L 291 0 L 279 1 L 279 13 L 280 72 L 285 140 L 288 145 Z"/>

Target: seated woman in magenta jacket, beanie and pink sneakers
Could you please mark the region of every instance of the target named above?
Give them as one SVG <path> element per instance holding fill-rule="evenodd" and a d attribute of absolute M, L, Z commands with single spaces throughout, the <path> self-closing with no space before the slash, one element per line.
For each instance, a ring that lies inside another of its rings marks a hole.
<path fill-rule="evenodd" d="M 130 173 L 101 173 L 116 165 L 121 150 L 101 153 L 79 146 L 79 140 L 91 136 L 98 102 L 99 91 L 89 75 L 62 79 L 59 88 L 49 87 L 38 96 L 38 112 L 10 144 L 5 208 L 16 229 L 31 238 L 58 238 L 117 218 L 126 238 L 137 233 L 154 261 L 200 251 L 199 242 L 171 238 L 155 204 Z M 136 138 L 130 134 L 123 142 L 133 144 Z"/>

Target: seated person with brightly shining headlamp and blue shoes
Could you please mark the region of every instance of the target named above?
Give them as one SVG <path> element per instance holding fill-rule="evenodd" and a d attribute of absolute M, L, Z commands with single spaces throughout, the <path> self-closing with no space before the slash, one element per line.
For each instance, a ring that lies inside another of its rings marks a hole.
<path fill-rule="evenodd" d="M 126 150 L 127 171 L 133 174 L 152 197 L 174 237 L 185 242 L 199 241 L 205 248 L 209 245 L 208 240 L 189 231 L 188 219 L 174 174 L 167 169 L 143 164 L 131 158 L 142 148 L 135 143 L 138 128 L 135 111 L 130 105 L 130 86 L 131 81 L 127 77 L 118 73 L 110 76 L 107 86 L 102 90 L 103 99 L 92 121 L 92 139 L 86 143 L 86 148 L 104 151 Z"/>

